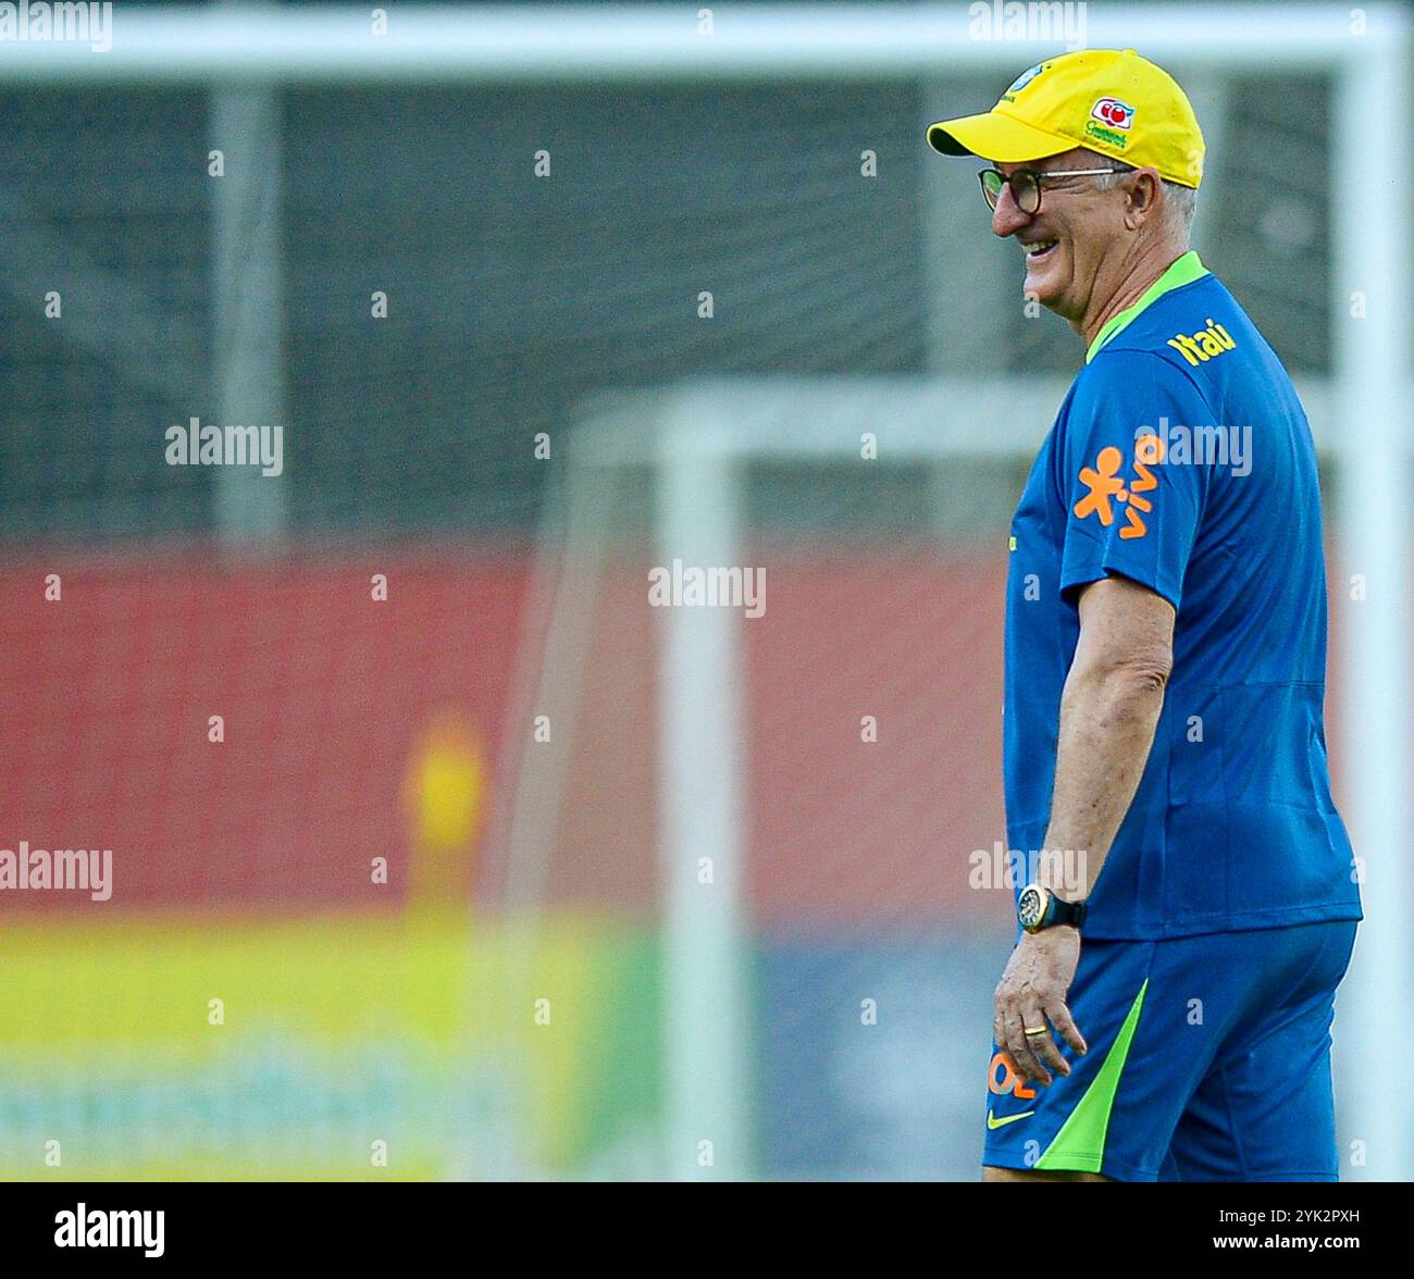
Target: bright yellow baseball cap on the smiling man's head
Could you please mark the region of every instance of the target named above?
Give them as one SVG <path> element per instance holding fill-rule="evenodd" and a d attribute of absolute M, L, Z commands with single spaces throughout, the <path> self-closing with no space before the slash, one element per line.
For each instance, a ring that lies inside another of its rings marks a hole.
<path fill-rule="evenodd" d="M 980 116 L 939 120 L 928 140 L 945 155 L 994 164 L 1044 160 L 1086 147 L 1196 188 L 1203 131 L 1184 90 L 1134 49 L 1080 49 L 1024 71 Z"/>

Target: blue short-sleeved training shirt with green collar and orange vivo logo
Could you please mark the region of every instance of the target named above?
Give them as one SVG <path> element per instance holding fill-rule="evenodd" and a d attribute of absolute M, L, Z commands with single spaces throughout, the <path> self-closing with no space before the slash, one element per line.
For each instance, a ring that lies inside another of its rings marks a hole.
<path fill-rule="evenodd" d="M 1311 428 L 1281 362 L 1196 253 L 1096 336 L 1012 520 L 1007 837 L 1028 858 L 1051 815 L 1076 596 L 1109 575 L 1178 616 L 1154 746 L 1086 936 L 1360 919 L 1326 767 Z"/>

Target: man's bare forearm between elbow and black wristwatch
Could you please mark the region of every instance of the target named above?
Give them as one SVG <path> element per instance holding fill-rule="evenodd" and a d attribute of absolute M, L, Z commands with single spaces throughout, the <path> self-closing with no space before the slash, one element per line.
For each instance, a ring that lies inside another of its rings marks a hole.
<path fill-rule="evenodd" d="M 1134 800 L 1164 709 L 1167 671 L 1072 667 L 1060 695 L 1056 776 L 1039 882 L 1089 897 Z M 1059 854 L 1059 866 L 1055 862 Z"/>

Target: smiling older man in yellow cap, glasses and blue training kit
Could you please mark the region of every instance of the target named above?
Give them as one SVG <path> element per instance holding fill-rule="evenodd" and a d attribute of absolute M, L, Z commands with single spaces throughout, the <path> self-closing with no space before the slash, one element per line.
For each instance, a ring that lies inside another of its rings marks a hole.
<path fill-rule="evenodd" d="M 993 233 L 1086 343 L 1011 526 L 1007 834 L 1031 882 L 986 1177 L 1333 1180 L 1360 902 L 1326 769 L 1316 459 L 1281 362 L 1188 247 L 1198 120 L 1158 66 L 1094 49 L 928 137 L 991 161 Z"/>

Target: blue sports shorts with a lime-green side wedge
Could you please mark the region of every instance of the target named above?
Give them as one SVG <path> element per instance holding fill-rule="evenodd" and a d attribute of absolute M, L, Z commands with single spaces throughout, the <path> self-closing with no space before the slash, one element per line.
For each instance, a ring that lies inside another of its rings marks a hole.
<path fill-rule="evenodd" d="M 1331 1019 L 1353 920 L 1083 941 L 1089 1053 L 1022 1084 L 993 1043 L 983 1163 L 1121 1181 L 1335 1181 Z"/>

